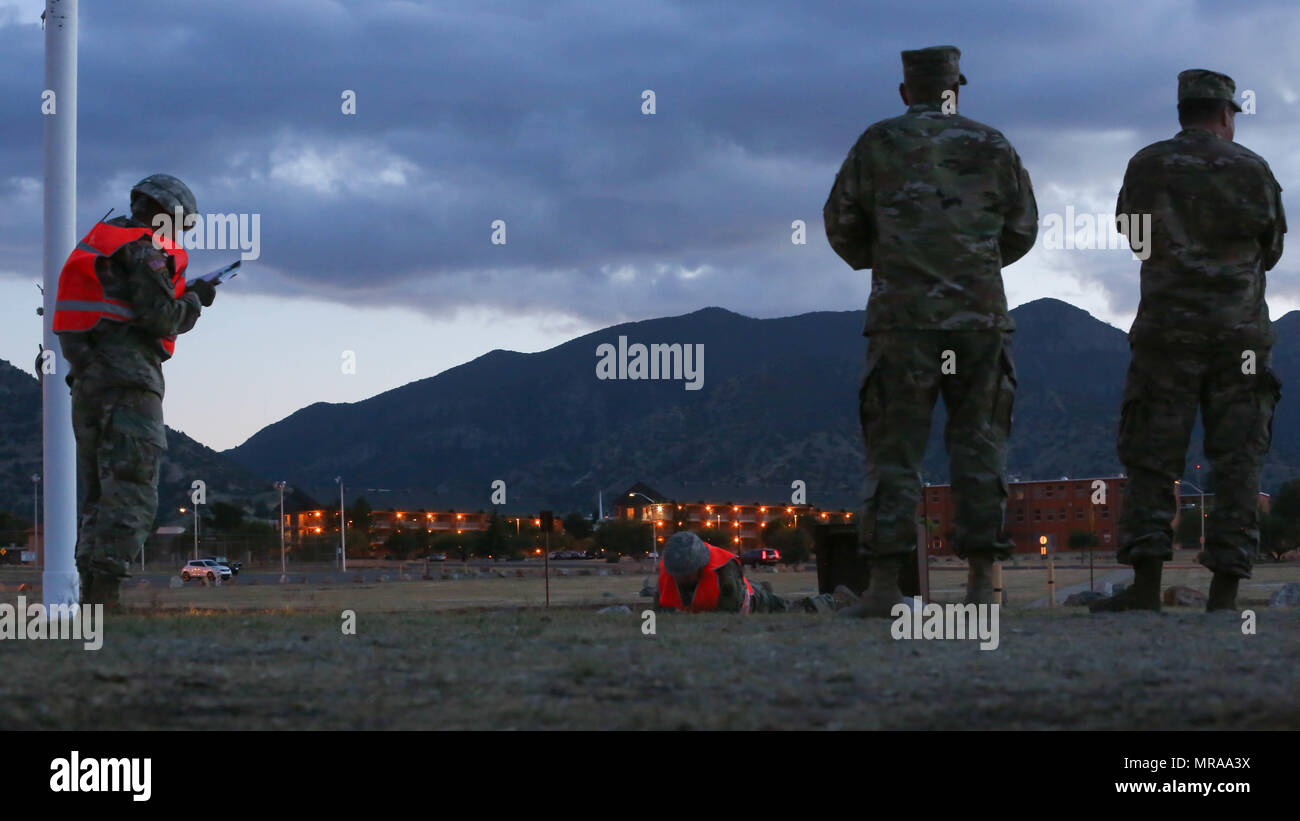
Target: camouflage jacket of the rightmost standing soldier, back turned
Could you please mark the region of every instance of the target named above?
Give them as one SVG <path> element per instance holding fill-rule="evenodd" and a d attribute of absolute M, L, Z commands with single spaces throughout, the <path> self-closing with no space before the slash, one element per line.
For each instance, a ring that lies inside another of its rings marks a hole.
<path fill-rule="evenodd" d="M 1115 214 L 1150 214 L 1135 344 L 1273 343 L 1264 273 L 1282 257 L 1287 221 L 1282 186 L 1262 157 L 1184 129 L 1134 155 Z"/>

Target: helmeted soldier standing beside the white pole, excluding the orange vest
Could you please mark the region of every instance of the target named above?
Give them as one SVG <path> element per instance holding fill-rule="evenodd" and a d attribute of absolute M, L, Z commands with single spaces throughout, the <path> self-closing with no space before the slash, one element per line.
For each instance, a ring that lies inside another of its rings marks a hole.
<path fill-rule="evenodd" d="M 186 222 L 198 214 L 185 183 L 155 174 L 131 190 L 130 217 L 103 225 L 152 230 L 156 214 L 173 217 L 177 208 Z M 177 240 L 179 235 L 178 227 Z M 112 286 L 113 294 L 127 297 L 122 301 L 129 301 L 134 318 L 101 320 L 83 333 L 60 333 L 58 342 L 70 365 L 68 385 L 77 436 L 77 569 L 82 601 L 116 607 L 120 582 L 129 575 L 129 562 L 140 551 L 157 513 L 159 462 L 166 449 L 162 361 L 168 353 L 160 339 L 194 327 L 200 305 L 212 304 L 214 286 L 198 282 L 178 297 L 176 262 L 155 247 L 151 235 L 127 242 L 109 256 L 98 256 L 95 273 L 101 283 Z"/>

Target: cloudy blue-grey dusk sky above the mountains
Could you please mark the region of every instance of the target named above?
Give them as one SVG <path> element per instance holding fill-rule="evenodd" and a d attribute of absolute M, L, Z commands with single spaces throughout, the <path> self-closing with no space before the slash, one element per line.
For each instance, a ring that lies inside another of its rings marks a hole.
<path fill-rule="evenodd" d="M 0 0 L 0 357 L 27 370 L 42 8 Z M 1236 138 L 1295 222 L 1296 42 L 1294 0 L 83 0 L 78 235 L 155 171 L 204 213 L 260 214 L 261 257 L 165 366 L 168 423 L 221 449 L 493 348 L 707 305 L 862 308 L 870 277 L 831 251 L 820 210 L 858 134 L 902 112 L 906 48 L 962 49 L 961 110 L 1008 135 L 1043 216 L 1112 212 L 1128 157 L 1178 130 L 1178 73 L 1225 71 L 1256 95 Z M 1274 318 L 1300 305 L 1295 260 L 1270 275 Z M 1011 305 L 1053 296 L 1124 330 L 1138 305 L 1127 251 L 1040 239 L 1005 281 Z"/>

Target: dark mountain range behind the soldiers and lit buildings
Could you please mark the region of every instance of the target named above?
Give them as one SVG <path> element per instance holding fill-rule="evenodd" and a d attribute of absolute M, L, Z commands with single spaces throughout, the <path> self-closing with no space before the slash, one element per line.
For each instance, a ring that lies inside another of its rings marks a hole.
<path fill-rule="evenodd" d="M 1011 478 L 1119 473 L 1126 334 L 1053 299 L 1011 316 L 1019 383 Z M 183 494 L 188 477 L 203 475 L 209 492 L 265 507 L 272 479 L 332 499 L 334 477 L 343 475 L 348 499 L 365 495 L 374 508 L 486 509 L 499 479 L 508 511 L 585 513 L 598 499 L 615 504 L 638 481 L 681 500 L 719 503 L 780 503 L 802 481 L 809 503 L 853 508 L 863 477 L 863 320 L 861 310 L 755 320 L 705 308 L 537 353 L 491 351 L 356 403 L 316 403 L 221 453 L 169 430 L 162 494 Z M 1300 385 L 1300 312 L 1275 327 L 1274 369 L 1283 385 Z M 689 390 L 689 374 L 601 378 L 614 360 L 630 365 L 637 343 L 702 346 L 698 390 Z M 36 381 L 0 362 L 0 509 L 21 512 L 31 505 L 29 475 L 39 472 Z M 940 401 L 923 469 L 928 482 L 948 481 L 942 423 Z M 1300 404 L 1284 399 L 1266 490 L 1300 475 L 1297 433 Z M 1199 439 L 1197 429 L 1187 462 L 1192 481 L 1191 466 L 1202 460 Z M 1202 478 L 1210 483 L 1208 465 Z"/>

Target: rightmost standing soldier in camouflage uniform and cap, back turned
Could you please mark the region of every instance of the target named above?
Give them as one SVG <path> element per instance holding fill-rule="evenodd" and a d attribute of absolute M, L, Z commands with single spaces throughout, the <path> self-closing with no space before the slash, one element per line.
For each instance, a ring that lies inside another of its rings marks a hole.
<path fill-rule="evenodd" d="M 1179 74 L 1183 130 L 1134 156 L 1115 204 L 1117 217 L 1127 216 L 1117 220 L 1122 231 L 1150 214 L 1152 234 L 1118 439 L 1128 474 L 1119 561 L 1134 566 L 1134 583 L 1093 611 L 1160 609 L 1162 562 L 1174 555 L 1174 482 L 1197 408 L 1214 470 L 1200 556 L 1214 573 L 1206 608 L 1236 609 L 1238 581 L 1251 577 L 1260 468 L 1282 395 L 1269 366 L 1265 272 L 1282 256 L 1287 225 L 1269 164 L 1232 142 L 1235 90 L 1216 71 Z"/>

